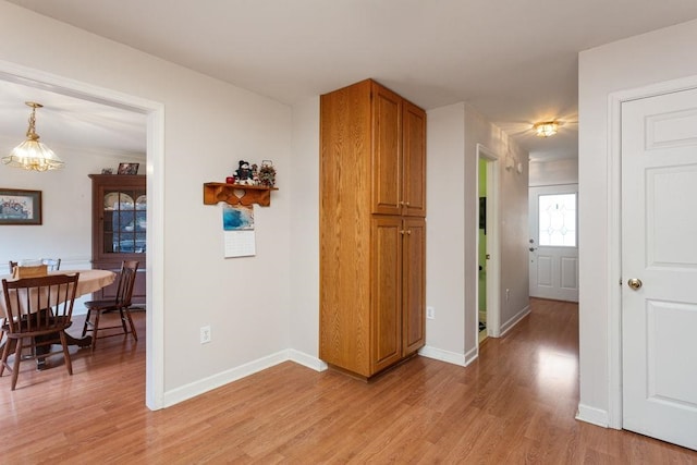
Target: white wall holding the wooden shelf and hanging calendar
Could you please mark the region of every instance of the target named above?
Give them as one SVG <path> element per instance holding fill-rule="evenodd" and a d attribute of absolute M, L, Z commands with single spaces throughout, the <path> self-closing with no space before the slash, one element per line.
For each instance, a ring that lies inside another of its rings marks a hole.
<path fill-rule="evenodd" d="M 286 351 L 291 109 L 4 1 L 0 60 L 164 106 L 164 167 L 149 174 L 164 186 L 166 234 L 158 240 L 166 397 L 209 389 L 246 364 Z M 224 180 L 242 158 L 273 160 L 279 191 L 270 207 L 255 208 L 256 257 L 224 259 L 221 210 L 203 205 L 203 184 Z M 206 323 L 212 342 L 201 345 Z"/>

